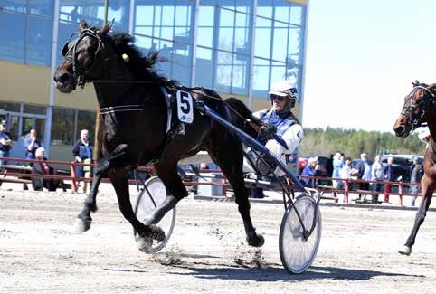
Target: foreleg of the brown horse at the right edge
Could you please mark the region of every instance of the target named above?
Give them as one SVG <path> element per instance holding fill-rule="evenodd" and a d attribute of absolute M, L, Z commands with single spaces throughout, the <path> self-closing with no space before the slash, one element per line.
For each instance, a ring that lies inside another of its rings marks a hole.
<path fill-rule="evenodd" d="M 424 222 L 425 215 L 427 214 L 427 210 L 431 204 L 431 196 L 433 194 L 434 186 L 431 179 L 424 175 L 421 181 L 422 185 L 422 203 L 418 208 L 415 216 L 415 223 L 413 224 L 413 229 L 407 241 L 404 244 L 404 248 L 402 251 L 399 251 L 401 254 L 410 255 L 412 253 L 412 246 L 415 243 L 416 234 L 420 229 L 421 224 Z"/>

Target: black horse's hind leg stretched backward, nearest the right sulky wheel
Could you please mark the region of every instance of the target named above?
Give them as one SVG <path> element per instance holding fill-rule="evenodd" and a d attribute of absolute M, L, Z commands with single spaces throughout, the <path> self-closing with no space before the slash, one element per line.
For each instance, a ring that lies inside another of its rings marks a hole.
<path fill-rule="evenodd" d="M 223 146 L 224 144 L 225 147 Z M 232 185 L 236 204 L 238 204 L 238 210 L 241 213 L 245 233 L 247 234 L 248 244 L 254 247 L 261 247 L 265 240 L 261 234 L 256 232 L 252 224 L 248 191 L 243 181 L 241 142 L 234 137 L 216 138 L 209 145 L 208 152 L 213 161 L 220 166 L 230 185 Z"/>

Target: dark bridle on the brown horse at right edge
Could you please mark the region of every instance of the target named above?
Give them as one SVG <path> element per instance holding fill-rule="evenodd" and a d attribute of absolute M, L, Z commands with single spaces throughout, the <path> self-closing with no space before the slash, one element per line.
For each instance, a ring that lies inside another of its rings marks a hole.
<path fill-rule="evenodd" d="M 422 97 L 422 100 L 420 101 L 420 103 L 418 103 L 418 105 L 412 105 L 412 98 L 416 94 L 416 92 L 420 89 L 424 91 L 424 95 Z M 411 100 L 410 106 L 406 107 L 408 100 Z M 431 92 L 431 90 L 429 90 L 428 88 L 423 87 L 423 86 L 415 86 L 413 88 L 412 92 L 407 97 L 406 103 L 404 103 L 403 110 L 402 110 L 401 114 L 403 116 L 409 117 L 409 120 L 412 124 L 412 130 L 414 130 L 415 128 L 419 128 L 419 127 L 426 125 L 420 121 L 425 116 L 426 109 L 428 109 L 431 106 L 434 107 L 434 104 L 435 104 L 435 95 L 433 92 Z M 414 115 L 414 113 L 412 111 L 412 109 L 415 107 L 419 108 L 419 112 L 416 116 Z M 407 111 L 407 110 L 409 110 L 409 111 Z"/>

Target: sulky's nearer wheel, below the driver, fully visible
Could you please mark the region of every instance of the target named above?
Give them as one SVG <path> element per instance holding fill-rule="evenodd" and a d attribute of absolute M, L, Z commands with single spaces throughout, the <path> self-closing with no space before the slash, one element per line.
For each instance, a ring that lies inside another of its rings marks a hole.
<path fill-rule="evenodd" d="M 299 213 L 306 230 L 313 232 L 305 236 L 296 213 Z M 314 215 L 316 213 L 316 217 Z M 300 197 L 294 205 L 289 205 L 280 226 L 279 250 L 280 260 L 290 273 L 308 270 L 317 256 L 321 241 L 321 213 L 316 201 L 308 195 Z"/>

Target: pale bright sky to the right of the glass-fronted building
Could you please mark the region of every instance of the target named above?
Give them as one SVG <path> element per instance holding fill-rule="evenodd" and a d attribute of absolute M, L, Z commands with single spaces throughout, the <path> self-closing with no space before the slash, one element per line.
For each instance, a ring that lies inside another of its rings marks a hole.
<path fill-rule="evenodd" d="M 393 132 L 412 81 L 436 82 L 435 0 L 310 0 L 303 125 Z"/>

